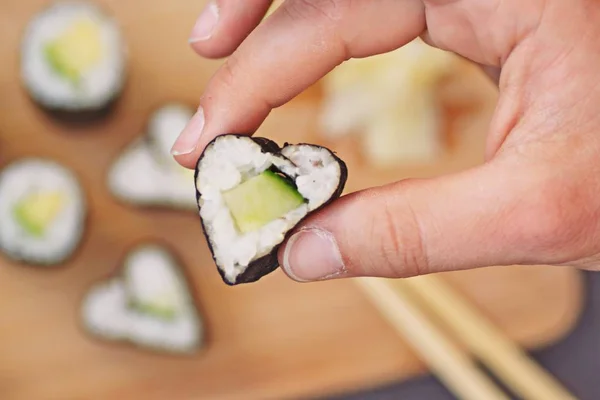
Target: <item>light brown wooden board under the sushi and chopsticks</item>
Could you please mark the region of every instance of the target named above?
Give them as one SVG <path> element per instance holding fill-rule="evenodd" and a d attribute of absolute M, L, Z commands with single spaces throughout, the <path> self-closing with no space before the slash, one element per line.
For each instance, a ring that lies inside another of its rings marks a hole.
<path fill-rule="evenodd" d="M 297 284 L 277 271 L 257 284 L 228 287 L 215 270 L 195 213 L 137 209 L 111 197 L 107 170 L 140 134 L 150 112 L 170 100 L 195 105 L 220 63 L 200 59 L 186 43 L 203 1 L 100 3 L 123 26 L 130 79 L 114 113 L 86 127 L 58 124 L 20 86 L 20 36 L 46 2 L 0 4 L 0 166 L 23 156 L 59 160 L 78 174 L 91 207 L 85 238 L 64 267 L 28 268 L 0 255 L 0 398 L 283 399 L 425 373 L 352 281 Z M 260 133 L 331 145 L 349 163 L 348 190 L 481 161 L 483 136 L 471 127 L 454 134 L 448 155 L 434 165 L 370 169 L 356 139 L 332 143 L 317 135 L 318 101 L 318 87 L 311 88 L 276 110 Z M 143 240 L 168 243 L 191 276 L 208 330 L 204 351 L 194 357 L 101 343 L 79 328 L 79 302 L 86 290 L 115 272 L 125 252 Z M 582 305 L 581 276 L 567 268 L 486 268 L 446 276 L 527 348 L 563 337 Z"/>

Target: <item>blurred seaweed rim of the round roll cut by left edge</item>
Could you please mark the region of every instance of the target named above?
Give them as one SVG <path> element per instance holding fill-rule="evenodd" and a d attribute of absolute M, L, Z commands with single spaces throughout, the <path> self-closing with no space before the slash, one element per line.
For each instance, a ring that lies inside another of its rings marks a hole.
<path fill-rule="evenodd" d="M 81 191 L 81 198 L 84 206 L 83 214 L 81 216 L 81 224 L 80 229 L 78 230 L 79 239 L 77 242 L 73 244 L 71 249 L 64 253 L 64 255 L 60 258 L 53 259 L 52 261 L 44 261 L 40 259 L 31 259 L 27 258 L 27 256 L 21 256 L 21 253 L 16 253 L 10 249 L 7 249 L 6 246 L 2 246 L 0 243 L 0 253 L 2 253 L 3 258 L 9 261 L 11 264 L 21 268 L 28 269 L 37 269 L 40 271 L 56 271 L 60 269 L 65 269 L 68 267 L 68 264 L 72 262 L 79 254 L 81 253 L 82 247 L 85 245 L 88 240 L 89 230 L 90 230 L 90 219 L 91 219 L 91 208 L 90 208 L 90 198 L 87 191 L 82 184 L 81 177 L 72 169 L 67 167 L 65 164 L 48 157 L 41 156 L 26 156 L 26 157 L 18 157 L 10 161 L 9 163 L 3 165 L 0 169 L 0 180 L 6 174 L 5 170 L 12 167 L 14 164 L 22 163 L 26 161 L 43 161 L 58 165 L 59 167 L 66 170 L 77 182 L 79 186 L 79 190 Z"/>

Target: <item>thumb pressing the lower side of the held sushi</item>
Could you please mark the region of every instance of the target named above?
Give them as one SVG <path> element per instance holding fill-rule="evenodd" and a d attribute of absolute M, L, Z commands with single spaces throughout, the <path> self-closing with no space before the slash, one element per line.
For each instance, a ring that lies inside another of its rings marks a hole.
<path fill-rule="evenodd" d="M 313 281 L 521 263 L 539 237 L 531 221 L 540 208 L 523 200 L 532 182 L 514 171 L 489 163 L 344 196 L 295 231 L 280 264 L 290 278 Z"/>

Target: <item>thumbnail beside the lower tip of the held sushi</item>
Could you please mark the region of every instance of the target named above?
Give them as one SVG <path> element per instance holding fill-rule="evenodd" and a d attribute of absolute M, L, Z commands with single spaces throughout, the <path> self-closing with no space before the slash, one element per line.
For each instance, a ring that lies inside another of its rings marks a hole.
<path fill-rule="evenodd" d="M 288 240 L 283 268 L 292 279 L 308 282 L 343 273 L 344 263 L 331 233 L 309 228 L 298 231 Z"/>

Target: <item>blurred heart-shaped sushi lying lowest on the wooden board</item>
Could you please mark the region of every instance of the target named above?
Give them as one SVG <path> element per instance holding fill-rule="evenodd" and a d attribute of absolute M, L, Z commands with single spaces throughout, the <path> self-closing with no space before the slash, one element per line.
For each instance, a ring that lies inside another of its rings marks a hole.
<path fill-rule="evenodd" d="M 81 313 L 92 336 L 154 351 L 191 354 L 204 339 L 181 266 L 157 244 L 133 249 L 119 276 L 90 289 Z"/>

